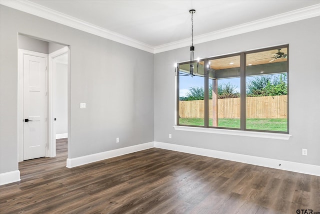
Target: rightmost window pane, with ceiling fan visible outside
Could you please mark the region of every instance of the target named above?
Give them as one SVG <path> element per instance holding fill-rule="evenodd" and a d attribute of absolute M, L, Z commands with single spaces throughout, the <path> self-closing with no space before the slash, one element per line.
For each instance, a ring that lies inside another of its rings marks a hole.
<path fill-rule="evenodd" d="M 245 83 L 246 129 L 287 132 L 287 48 L 246 54 Z"/>

